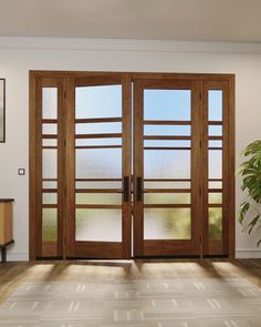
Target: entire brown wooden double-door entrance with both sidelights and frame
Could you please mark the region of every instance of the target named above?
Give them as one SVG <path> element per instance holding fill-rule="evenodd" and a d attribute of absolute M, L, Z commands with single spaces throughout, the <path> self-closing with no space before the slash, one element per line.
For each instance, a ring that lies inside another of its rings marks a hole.
<path fill-rule="evenodd" d="M 233 256 L 233 75 L 30 72 L 30 256 Z"/>

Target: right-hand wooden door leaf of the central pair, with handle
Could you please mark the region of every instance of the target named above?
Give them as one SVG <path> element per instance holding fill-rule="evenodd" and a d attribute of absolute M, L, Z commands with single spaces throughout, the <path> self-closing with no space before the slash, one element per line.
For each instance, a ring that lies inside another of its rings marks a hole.
<path fill-rule="evenodd" d="M 199 83 L 134 86 L 136 256 L 200 255 Z"/>

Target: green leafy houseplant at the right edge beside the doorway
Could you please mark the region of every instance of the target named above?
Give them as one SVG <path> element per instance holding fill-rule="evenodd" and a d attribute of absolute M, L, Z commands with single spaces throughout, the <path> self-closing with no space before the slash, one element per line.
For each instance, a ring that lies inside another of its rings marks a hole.
<path fill-rule="evenodd" d="M 261 141 L 250 143 L 242 152 L 243 163 L 239 167 L 242 176 L 241 190 L 247 192 L 240 204 L 239 222 L 251 234 L 261 227 Z M 258 242 L 258 246 L 261 239 Z"/>

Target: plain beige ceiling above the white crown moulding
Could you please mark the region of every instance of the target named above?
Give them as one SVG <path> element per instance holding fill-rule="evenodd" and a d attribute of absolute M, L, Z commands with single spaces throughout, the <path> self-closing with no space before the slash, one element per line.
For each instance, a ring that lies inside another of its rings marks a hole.
<path fill-rule="evenodd" d="M 261 42 L 261 1 L 0 0 L 0 35 Z"/>

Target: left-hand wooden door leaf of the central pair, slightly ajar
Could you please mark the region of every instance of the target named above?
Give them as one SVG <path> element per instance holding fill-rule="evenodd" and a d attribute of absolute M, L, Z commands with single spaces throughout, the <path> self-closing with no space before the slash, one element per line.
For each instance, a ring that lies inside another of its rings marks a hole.
<path fill-rule="evenodd" d="M 130 85 L 74 78 L 67 88 L 66 257 L 130 257 Z"/>

